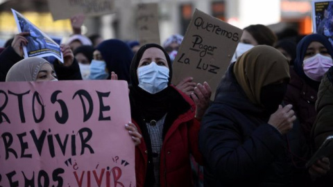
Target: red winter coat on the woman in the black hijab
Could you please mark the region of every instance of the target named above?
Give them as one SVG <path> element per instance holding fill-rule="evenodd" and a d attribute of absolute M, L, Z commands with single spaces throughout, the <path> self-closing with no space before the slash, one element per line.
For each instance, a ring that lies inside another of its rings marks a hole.
<path fill-rule="evenodd" d="M 174 87 L 173 87 L 174 88 Z M 176 88 L 174 88 L 176 89 Z M 193 186 L 191 184 L 191 163 L 190 153 L 196 158 L 198 163 L 203 163 L 202 155 L 198 149 L 198 132 L 200 122 L 194 118 L 194 102 L 185 94 L 178 91 L 179 99 L 185 100 L 191 106 L 187 112 L 180 114 L 169 127 L 164 137 L 160 152 L 160 184 L 161 187 L 167 186 Z M 173 100 L 173 103 L 180 105 L 181 102 Z M 137 125 L 137 122 L 133 120 Z M 139 125 L 137 125 L 139 129 Z M 142 143 L 135 149 L 135 173 L 137 187 L 144 186 L 147 169 L 147 147 L 142 139 Z"/>

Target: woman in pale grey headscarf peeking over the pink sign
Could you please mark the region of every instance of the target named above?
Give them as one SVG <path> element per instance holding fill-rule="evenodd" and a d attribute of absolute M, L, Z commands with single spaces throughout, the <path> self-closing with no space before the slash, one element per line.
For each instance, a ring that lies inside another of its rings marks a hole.
<path fill-rule="evenodd" d="M 28 57 L 14 64 L 7 73 L 6 82 L 14 81 L 56 81 L 52 64 L 41 57 Z"/>

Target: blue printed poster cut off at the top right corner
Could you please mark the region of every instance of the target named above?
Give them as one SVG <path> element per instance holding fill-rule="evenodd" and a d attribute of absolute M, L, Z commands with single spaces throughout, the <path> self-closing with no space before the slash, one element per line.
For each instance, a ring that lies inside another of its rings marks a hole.
<path fill-rule="evenodd" d="M 333 36 L 333 1 L 314 0 L 311 3 L 314 33 Z"/>

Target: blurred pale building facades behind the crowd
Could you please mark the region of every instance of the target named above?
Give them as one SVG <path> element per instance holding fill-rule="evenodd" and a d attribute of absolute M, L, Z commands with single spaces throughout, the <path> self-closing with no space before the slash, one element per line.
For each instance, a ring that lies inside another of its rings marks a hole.
<path fill-rule="evenodd" d="M 161 42 L 174 33 L 184 35 L 196 8 L 239 28 L 264 24 L 275 33 L 287 28 L 300 34 L 312 32 L 310 0 L 114 0 L 114 12 L 86 17 L 82 32 L 99 33 L 104 39 L 137 39 L 137 4 L 152 2 L 159 4 Z M 66 39 L 72 33 L 69 19 L 53 21 L 47 0 L 0 0 L 0 46 L 18 33 L 10 8 L 51 37 Z"/>

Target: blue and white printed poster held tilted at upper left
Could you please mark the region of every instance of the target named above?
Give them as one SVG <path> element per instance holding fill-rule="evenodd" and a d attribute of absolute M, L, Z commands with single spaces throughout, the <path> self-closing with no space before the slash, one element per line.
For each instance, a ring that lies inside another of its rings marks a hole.
<path fill-rule="evenodd" d="M 60 62 L 64 62 L 60 46 L 54 42 L 51 37 L 42 32 L 33 25 L 28 19 L 16 10 L 12 9 L 19 33 L 28 32 L 30 35 L 25 36 L 28 44 L 23 46 L 24 58 L 27 57 L 56 57 Z"/>

